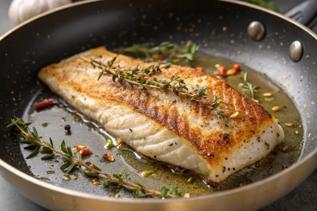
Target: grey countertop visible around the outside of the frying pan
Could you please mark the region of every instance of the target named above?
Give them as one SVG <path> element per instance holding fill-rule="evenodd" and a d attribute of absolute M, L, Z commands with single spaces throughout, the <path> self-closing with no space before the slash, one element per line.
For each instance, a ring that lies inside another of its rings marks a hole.
<path fill-rule="evenodd" d="M 302 0 L 275 0 L 277 7 L 281 12 L 300 3 Z M 8 9 L 11 0 L 0 0 L 0 35 L 14 27 L 9 21 Z M 317 32 L 317 28 L 314 28 Z M 16 210 L 36 210 L 44 211 L 46 209 L 29 201 L 23 195 L 18 193 L 13 187 L 0 177 L 0 211 Z M 307 178 L 301 185 L 294 189 L 288 195 L 282 197 L 277 202 L 261 209 L 268 210 L 296 210 L 296 211 L 316 211 L 317 210 L 317 170 Z"/>

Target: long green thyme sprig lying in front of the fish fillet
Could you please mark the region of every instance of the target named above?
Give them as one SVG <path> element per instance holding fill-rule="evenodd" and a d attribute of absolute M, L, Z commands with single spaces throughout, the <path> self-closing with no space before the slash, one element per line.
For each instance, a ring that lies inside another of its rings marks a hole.
<path fill-rule="evenodd" d="M 30 158 L 34 156 L 39 148 L 42 146 L 43 149 L 47 149 L 51 154 L 46 155 L 42 157 L 41 159 L 49 159 L 54 157 L 55 154 L 60 154 L 62 156 L 62 159 L 64 161 L 64 164 L 61 165 L 60 169 L 63 171 L 66 171 L 69 173 L 74 169 L 75 166 L 83 166 L 86 169 L 83 170 L 83 173 L 87 175 L 88 177 L 99 177 L 99 175 L 104 175 L 103 178 L 103 185 L 108 186 L 111 183 L 117 183 L 121 184 L 124 187 L 128 186 L 130 187 L 130 190 L 133 190 L 133 197 L 140 197 L 145 195 L 153 195 L 160 198 L 176 198 L 183 196 L 183 192 L 178 191 L 177 189 L 173 188 L 171 192 L 168 193 L 168 191 L 165 191 L 167 188 L 162 187 L 163 192 L 152 190 L 149 188 L 146 188 L 145 186 L 139 184 L 139 183 L 131 183 L 128 181 L 127 175 L 121 175 L 119 173 L 114 173 L 112 176 L 108 173 L 102 171 L 98 166 L 95 164 L 92 164 L 91 162 L 84 163 L 81 160 L 81 153 L 80 152 L 72 152 L 71 147 L 66 146 L 65 141 L 63 140 L 61 143 L 61 151 L 57 150 L 53 146 L 53 141 L 50 138 L 50 142 L 41 141 L 41 137 L 38 135 L 36 128 L 33 127 L 32 131 L 29 129 L 29 125 L 31 123 L 24 123 L 24 121 L 20 118 L 14 117 L 11 119 L 11 123 L 7 127 L 12 127 L 14 130 L 18 131 L 17 136 L 22 137 L 23 140 L 22 143 L 27 143 L 32 146 L 36 146 L 36 149 L 27 156 L 27 158 Z M 54 153 L 52 153 L 54 152 Z M 181 193 L 181 194 L 180 194 Z"/>

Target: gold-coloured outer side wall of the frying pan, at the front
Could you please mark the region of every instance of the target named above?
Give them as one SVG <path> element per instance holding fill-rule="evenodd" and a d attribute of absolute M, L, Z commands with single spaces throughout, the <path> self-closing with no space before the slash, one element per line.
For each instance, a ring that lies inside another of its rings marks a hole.
<path fill-rule="evenodd" d="M 310 156 L 306 162 L 296 168 L 287 169 L 282 177 L 262 180 L 244 188 L 223 191 L 219 194 L 192 197 L 179 200 L 151 199 L 120 199 L 82 194 L 63 189 L 36 180 L 17 171 L 8 164 L 0 162 L 1 176 L 11 183 L 22 195 L 49 210 L 104 210 L 105 207 L 114 210 L 257 210 L 281 198 L 310 175 L 316 166 L 311 165 L 317 156 Z M 22 175 L 21 175 L 22 174 Z M 31 190 L 31 191 L 30 191 Z"/>

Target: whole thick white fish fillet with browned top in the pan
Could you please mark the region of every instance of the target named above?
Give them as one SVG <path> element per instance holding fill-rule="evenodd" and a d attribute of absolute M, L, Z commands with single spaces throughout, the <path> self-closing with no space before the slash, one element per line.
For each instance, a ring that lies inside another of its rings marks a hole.
<path fill-rule="evenodd" d="M 145 63 L 107 51 L 104 47 L 82 53 L 113 67 L 133 69 Z M 190 169 L 220 183 L 235 172 L 271 152 L 284 139 L 276 119 L 261 105 L 233 89 L 225 81 L 200 69 L 171 65 L 155 74 L 160 79 L 181 76 L 187 87 L 208 86 L 207 93 L 220 96 L 219 108 L 228 116 L 218 117 L 173 92 L 139 90 L 127 83 L 113 83 L 100 69 L 75 55 L 43 68 L 38 77 L 57 95 L 108 133 L 137 152 L 153 159 Z M 152 76 L 154 77 L 154 76 Z"/>

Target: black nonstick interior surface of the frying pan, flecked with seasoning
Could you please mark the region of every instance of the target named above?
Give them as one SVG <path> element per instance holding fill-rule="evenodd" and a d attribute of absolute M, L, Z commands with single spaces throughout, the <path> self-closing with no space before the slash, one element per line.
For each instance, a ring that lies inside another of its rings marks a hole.
<path fill-rule="evenodd" d="M 266 28 L 264 39 L 258 42 L 251 40 L 246 33 L 249 23 L 256 20 Z M 13 115 L 22 117 L 24 114 L 28 118 L 28 112 L 34 110 L 34 101 L 53 96 L 37 81 L 37 73 L 42 67 L 102 45 L 112 49 L 144 42 L 158 45 L 167 40 L 179 44 L 192 40 L 201 46 L 203 53 L 241 63 L 266 74 L 275 84 L 283 87 L 301 114 L 304 146 L 299 160 L 315 150 L 317 144 L 313 138 L 316 136 L 317 115 L 313 102 L 317 99 L 314 86 L 317 76 L 314 51 L 317 42 L 309 32 L 278 16 L 230 2 L 160 1 L 149 4 L 147 1 L 96 1 L 43 16 L 23 25 L 0 41 L 0 158 L 49 183 L 100 195 L 115 194 L 117 187 L 105 193 L 101 186 L 87 186 L 87 179 L 80 175 L 76 187 L 69 187 L 70 183 L 61 181 L 61 172 L 55 180 L 55 176 L 48 173 L 60 171 L 58 167 L 52 170 L 54 166 L 60 165 L 55 160 L 37 165 L 39 156 L 26 162 L 26 154 L 21 152 L 15 137 L 6 135 L 9 132 L 6 125 Z M 288 57 L 288 46 L 294 40 L 301 41 L 304 48 L 302 59 L 297 63 Z M 285 80 L 285 75 L 291 77 Z M 102 136 L 98 133 L 94 133 L 95 136 L 90 132 L 85 133 L 89 130 L 87 125 L 73 124 L 74 116 L 66 111 L 61 114 L 62 111 L 57 108 L 51 110 L 55 114 L 31 115 L 37 120 L 37 128 L 49 121 L 49 124 L 57 126 L 52 137 L 57 144 L 63 139 L 73 145 L 84 140 L 86 143 L 88 141 L 91 148 L 99 148 L 100 154 L 103 152 L 103 144 L 100 144 L 104 142 Z M 65 122 L 59 115 L 65 117 Z M 66 123 L 73 124 L 72 136 L 65 136 L 63 126 Z M 57 129 L 59 127 L 61 130 Z M 45 137 L 44 130 L 42 133 Z M 97 152 L 95 150 L 95 154 Z M 117 156 L 120 159 L 120 153 Z M 91 159 L 96 162 L 100 160 L 98 157 Z M 112 171 L 111 164 L 108 166 Z M 113 169 L 119 170 L 118 167 Z M 157 188 L 155 185 L 159 187 L 160 184 L 153 182 L 152 185 Z M 129 193 L 122 194 L 124 196 Z"/>

